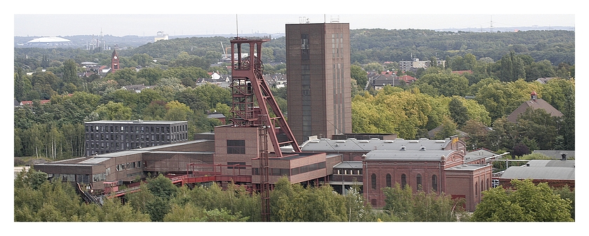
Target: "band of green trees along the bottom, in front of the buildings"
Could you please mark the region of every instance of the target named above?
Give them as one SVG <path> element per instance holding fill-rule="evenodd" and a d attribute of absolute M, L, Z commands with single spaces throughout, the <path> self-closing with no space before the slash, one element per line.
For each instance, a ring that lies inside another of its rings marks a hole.
<path fill-rule="evenodd" d="M 331 186 L 303 187 L 283 177 L 270 193 L 270 221 L 574 221 L 574 190 L 517 179 L 512 183 L 515 190 L 485 190 L 480 207 L 471 215 L 462 208 L 463 200 L 423 190 L 413 194 L 411 187 L 401 188 L 399 183 L 383 188 L 385 207 L 374 211 L 365 204 L 358 186 L 339 195 Z M 178 187 L 163 175 L 147 179 L 137 192 L 105 197 L 102 205 L 83 202 L 72 185 L 48 181 L 46 173 L 34 169 L 20 172 L 14 180 L 15 222 L 259 222 L 261 204 L 259 194 L 242 186 L 229 184 L 227 190 L 215 183 Z"/>

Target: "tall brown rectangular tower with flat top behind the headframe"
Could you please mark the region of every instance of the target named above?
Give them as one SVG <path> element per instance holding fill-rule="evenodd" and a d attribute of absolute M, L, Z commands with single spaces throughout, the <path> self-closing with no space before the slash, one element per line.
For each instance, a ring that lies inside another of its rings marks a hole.
<path fill-rule="evenodd" d="M 288 125 L 302 144 L 352 131 L 350 25 L 286 25 Z"/>

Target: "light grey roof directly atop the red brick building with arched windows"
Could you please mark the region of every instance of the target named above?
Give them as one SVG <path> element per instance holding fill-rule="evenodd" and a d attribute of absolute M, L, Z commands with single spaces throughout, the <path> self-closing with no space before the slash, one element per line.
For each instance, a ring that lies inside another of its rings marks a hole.
<path fill-rule="evenodd" d="M 365 160 L 415 160 L 436 161 L 441 160 L 442 155 L 449 156 L 453 150 L 435 151 L 398 151 L 398 150 L 374 150 L 366 154 Z"/>

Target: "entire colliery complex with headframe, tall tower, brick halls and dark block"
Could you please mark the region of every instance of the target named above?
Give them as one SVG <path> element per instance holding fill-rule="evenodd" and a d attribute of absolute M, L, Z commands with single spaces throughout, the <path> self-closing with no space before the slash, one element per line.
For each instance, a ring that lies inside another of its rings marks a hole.
<path fill-rule="evenodd" d="M 492 188 L 488 160 L 499 155 L 467 153 L 458 137 L 351 134 L 348 24 L 286 25 L 288 123 L 262 78 L 266 41 L 231 40 L 231 125 L 189 138 L 186 121 L 88 122 L 86 157 L 34 168 L 105 196 L 123 195 L 119 186 L 156 174 L 187 185 L 233 182 L 261 193 L 264 221 L 269 190 L 281 176 L 309 186 L 330 184 L 339 193 L 358 185 L 376 208 L 385 204 L 381 188 L 395 183 L 463 198 L 467 211 Z"/>

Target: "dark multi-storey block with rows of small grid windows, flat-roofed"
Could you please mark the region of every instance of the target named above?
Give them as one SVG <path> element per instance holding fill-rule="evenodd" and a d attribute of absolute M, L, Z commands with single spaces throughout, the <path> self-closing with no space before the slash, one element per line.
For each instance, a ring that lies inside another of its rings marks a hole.
<path fill-rule="evenodd" d="M 187 121 L 99 120 L 86 122 L 85 125 L 86 155 L 188 140 Z"/>

